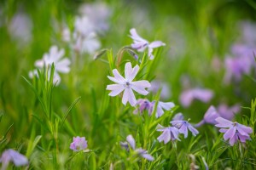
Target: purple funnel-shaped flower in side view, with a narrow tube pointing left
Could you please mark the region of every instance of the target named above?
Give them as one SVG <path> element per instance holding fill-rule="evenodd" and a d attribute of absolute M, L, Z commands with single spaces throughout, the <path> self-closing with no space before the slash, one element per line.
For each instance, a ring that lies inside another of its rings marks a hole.
<path fill-rule="evenodd" d="M 216 110 L 216 108 L 211 105 L 209 107 L 209 109 L 207 110 L 207 112 L 205 113 L 205 116 L 203 118 L 203 120 L 197 124 L 195 124 L 195 127 L 201 127 L 201 125 L 203 125 L 204 123 L 210 123 L 215 125 L 217 122 L 215 121 L 215 119 L 219 117 L 218 111 Z"/>

